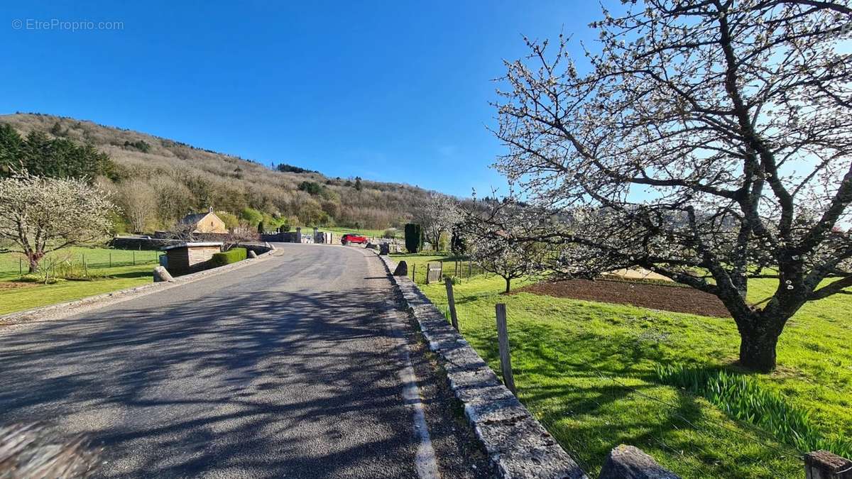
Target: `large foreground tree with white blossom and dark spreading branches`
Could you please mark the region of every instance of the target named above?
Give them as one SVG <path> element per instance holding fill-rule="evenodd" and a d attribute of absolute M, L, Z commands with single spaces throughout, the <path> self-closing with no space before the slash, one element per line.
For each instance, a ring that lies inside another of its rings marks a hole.
<path fill-rule="evenodd" d="M 556 246 L 563 274 L 716 295 L 740 363 L 773 370 L 787 320 L 852 286 L 850 22 L 846 2 L 647 0 L 604 11 L 581 67 L 567 38 L 527 40 L 495 103 L 498 169 L 539 216 L 515 240 Z"/>

